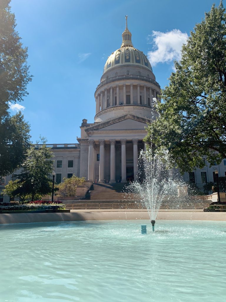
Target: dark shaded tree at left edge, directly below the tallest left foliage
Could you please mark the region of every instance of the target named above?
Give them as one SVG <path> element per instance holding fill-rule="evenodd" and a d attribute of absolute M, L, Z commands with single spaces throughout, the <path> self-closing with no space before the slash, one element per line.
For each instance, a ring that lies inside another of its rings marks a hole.
<path fill-rule="evenodd" d="M 0 175 L 13 173 L 26 158 L 30 146 L 30 126 L 19 111 L 7 116 L 0 131 Z"/>

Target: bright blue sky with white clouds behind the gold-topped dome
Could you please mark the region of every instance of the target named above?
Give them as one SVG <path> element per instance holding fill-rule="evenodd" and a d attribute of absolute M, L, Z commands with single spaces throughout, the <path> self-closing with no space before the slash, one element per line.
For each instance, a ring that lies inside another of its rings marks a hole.
<path fill-rule="evenodd" d="M 219 5 L 220 0 L 216 1 Z M 196 23 L 213 0 L 11 0 L 16 30 L 28 47 L 33 75 L 21 110 L 48 143 L 77 143 L 82 119 L 94 122 L 94 92 L 108 56 L 121 46 L 128 15 L 133 46 L 152 64 L 164 88 Z"/>

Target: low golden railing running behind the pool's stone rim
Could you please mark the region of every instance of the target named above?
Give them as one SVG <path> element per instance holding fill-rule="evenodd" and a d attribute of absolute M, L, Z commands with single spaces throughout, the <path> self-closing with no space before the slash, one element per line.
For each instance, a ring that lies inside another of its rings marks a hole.
<path fill-rule="evenodd" d="M 142 204 L 135 203 L 92 203 L 92 204 L 66 204 L 65 207 L 71 210 L 78 209 L 146 209 Z M 203 209 L 209 207 L 209 203 L 190 203 L 190 204 L 162 204 L 160 209 Z"/>

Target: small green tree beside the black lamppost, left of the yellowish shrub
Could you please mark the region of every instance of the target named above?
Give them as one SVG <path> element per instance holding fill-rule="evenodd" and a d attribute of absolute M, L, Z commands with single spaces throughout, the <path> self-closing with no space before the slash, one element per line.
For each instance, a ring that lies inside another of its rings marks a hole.
<path fill-rule="evenodd" d="M 48 175 L 52 173 L 53 153 L 44 144 L 38 148 L 31 146 L 27 152 L 27 158 L 23 162 L 22 173 L 18 175 L 18 181 L 10 185 L 6 185 L 6 191 L 10 192 L 10 188 L 15 186 L 15 190 L 11 191 L 11 196 L 24 194 L 30 196 L 31 201 L 35 195 L 45 195 L 52 191 L 52 181 Z M 8 190 L 8 191 L 7 191 Z"/>

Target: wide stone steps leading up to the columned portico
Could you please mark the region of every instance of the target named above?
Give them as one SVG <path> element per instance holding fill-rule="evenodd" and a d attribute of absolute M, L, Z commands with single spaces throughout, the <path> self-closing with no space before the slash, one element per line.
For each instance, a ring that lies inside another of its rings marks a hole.
<path fill-rule="evenodd" d="M 115 183 L 115 184 L 93 184 L 86 194 L 85 200 L 111 200 L 122 201 L 125 199 L 123 191 L 128 184 Z"/>

